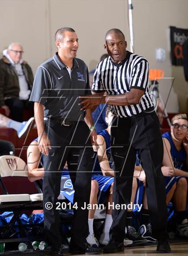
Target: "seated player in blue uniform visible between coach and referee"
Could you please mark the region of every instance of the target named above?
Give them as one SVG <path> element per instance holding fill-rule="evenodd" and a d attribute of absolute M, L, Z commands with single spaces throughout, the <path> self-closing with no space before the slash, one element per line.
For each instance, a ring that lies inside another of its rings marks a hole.
<path fill-rule="evenodd" d="M 101 244 L 107 244 L 109 241 L 109 230 L 112 223 L 111 208 L 108 207 L 108 202 L 112 202 L 112 191 L 114 182 L 114 170 L 113 160 L 111 159 L 110 148 L 110 127 L 113 115 L 110 112 L 110 108 L 107 108 L 105 121 L 108 124 L 106 130 L 101 130 L 97 135 L 97 144 L 94 145 L 94 151 L 96 156 L 94 159 L 94 170 L 91 182 L 91 195 L 90 203 L 101 204 L 106 202 L 106 219 L 104 223 L 103 233 L 99 242 Z M 98 245 L 97 239 L 94 237 L 93 221 L 94 221 L 95 209 L 89 211 L 89 236 L 87 242 L 92 246 Z"/>

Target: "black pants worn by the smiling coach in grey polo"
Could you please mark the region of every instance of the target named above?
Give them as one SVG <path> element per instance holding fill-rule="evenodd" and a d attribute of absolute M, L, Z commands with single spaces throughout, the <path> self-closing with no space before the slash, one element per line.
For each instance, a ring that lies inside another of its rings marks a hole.
<path fill-rule="evenodd" d="M 90 202 L 91 173 L 93 169 L 93 148 L 90 142 L 90 129 L 84 121 L 77 125 L 64 126 L 56 122 L 45 121 L 45 130 L 50 139 L 49 155 L 43 157 L 43 209 L 44 229 L 51 245 L 61 244 L 60 216 L 57 198 L 60 194 L 61 170 L 68 162 L 68 169 L 73 182 L 74 219 L 72 224 L 71 244 L 84 248 L 88 235 L 88 210 L 82 210 L 84 202 Z M 47 202 L 53 204 L 48 210 Z"/>

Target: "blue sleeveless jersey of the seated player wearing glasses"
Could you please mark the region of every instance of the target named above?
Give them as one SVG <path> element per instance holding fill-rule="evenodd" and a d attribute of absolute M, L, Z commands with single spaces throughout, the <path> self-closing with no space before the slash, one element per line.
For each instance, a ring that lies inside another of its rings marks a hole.
<path fill-rule="evenodd" d="M 168 141 L 171 144 L 171 157 L 172 157 L 172 160 L 174 163 L 174 167 L 177 169 L 180 169 L 182 171 L 187 171 L 187 168 L 186 168 L 187 153 L 186 153 L 184 147 L 182 147 L 182 149 L 180 151 L 177 150 L 177 148 L 175 147 L 175 144 L 172 140 L 170 132 L 164 133 L 162 135 L 162 137 L 168 139 Z"/>

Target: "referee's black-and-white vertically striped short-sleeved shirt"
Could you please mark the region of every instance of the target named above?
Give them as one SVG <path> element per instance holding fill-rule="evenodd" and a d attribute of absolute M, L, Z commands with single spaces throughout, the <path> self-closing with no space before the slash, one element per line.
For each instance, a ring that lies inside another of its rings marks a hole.
<path fill-rule="evenodd" d="M 140 103 L 128 106 L 112 105 L 111 112 L 120 117 L 131 117 L 153 107 L 149 90 L 149 64 L 137 54 L 127 51 L 120 64 L 113 63 L 111 57 L 101 61 L 94 72 L 92 91 L 106 91 L 109 95 L 130 92 L 132 88 L 144 90 Z"/>

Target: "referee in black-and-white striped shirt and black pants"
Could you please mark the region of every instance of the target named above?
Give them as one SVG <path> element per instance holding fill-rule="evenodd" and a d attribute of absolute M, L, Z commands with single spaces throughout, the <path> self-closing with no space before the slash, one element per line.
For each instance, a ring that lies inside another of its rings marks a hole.
<path fill-rule="evenodd" d="M 119 29 L 107 31 L 104 48 L 109 57 L 94 72 L 91 96 L 82 98 L 82 110 L 99 103 L 112 105 L 115 115 L 111 126 L 111 153 L 115 162 L 113 202 L 128 204 L 132 178 L 139 152 L 146 174 L 147 201 L 152 233 L 158 240 L 157 252 L 171 252 L 167 241 L 167 205 L 164 178 L 162 137 L 158 117 L 149 90 L 149 65 L 145 58 L 126 51 L 127 42 Z M 111 240 L 103 252 L 124 251 L 126 213 L 113 209 Z"/>

